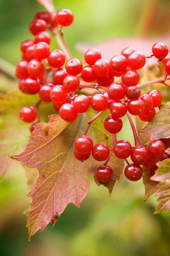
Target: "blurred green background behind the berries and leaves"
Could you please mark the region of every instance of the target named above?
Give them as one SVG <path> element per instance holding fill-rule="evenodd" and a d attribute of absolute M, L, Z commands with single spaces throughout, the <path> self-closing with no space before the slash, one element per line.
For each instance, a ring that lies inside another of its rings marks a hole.
<path fill-rule="evenodd" d="M 152 37 L 162 37 L 169 42 L 169 0 L 54 2 L 56 10 L 68 8 L 74 13 L 75 22 L 64 32 L 75 58 L 83 58 L 76 50 L 77 43 L 82 45 L 80 42 L 97 44 L 113 37 L 119 38 L 120 42 L 133 40 L 137 46 L 141 37 L 146 43 Z M 35 13 L 42 10 L 43 7 L 35 0 L 0 1 L 0 69 L 5 67 L 9 72 L 9 76 L 0 73 L 1 92 L 17 88 L 17 82 L 12 79 L 13 66 L 9 63 L 15 65 L 20 60 L 20 43 L 32 38 L 28 25 Z M 113 50 L 114 47 L 117 46 L 113 46 Z M 152 44 L 149 47 L 151 50 Z M 52 41 L 51 50 L 55 48 L 56 43 Z M 125 128 L 118 139 L 133 142 L 127 120 L 124 122 Z M 26 216 L 22 212 L 29 207 L 30 199 L 26 197 L 29 189 L 24 167 L 19 163 L 13 165 L 0 180 L 0 255 L 170 255 L 169 214 L 153 215 L 156 197 L 152 195 L 144 202 L 142 180 L 133 183 L 122 175 L 108 197 L 107 189 L 97 187 L 90 179 L 91 188 L 81 209 L 70 204 L 54 228 L 49 224 L 28 243 Z"/>

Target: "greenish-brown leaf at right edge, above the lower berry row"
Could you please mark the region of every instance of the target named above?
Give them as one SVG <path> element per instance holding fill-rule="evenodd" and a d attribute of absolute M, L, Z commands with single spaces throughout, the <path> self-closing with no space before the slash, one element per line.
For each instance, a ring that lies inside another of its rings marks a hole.
<path fill-rule="evenodd" d="M 162 104 L 160 111 L 140 132 L 150 134 L 150 140 L 170 138 L 170 102 Z"/>

